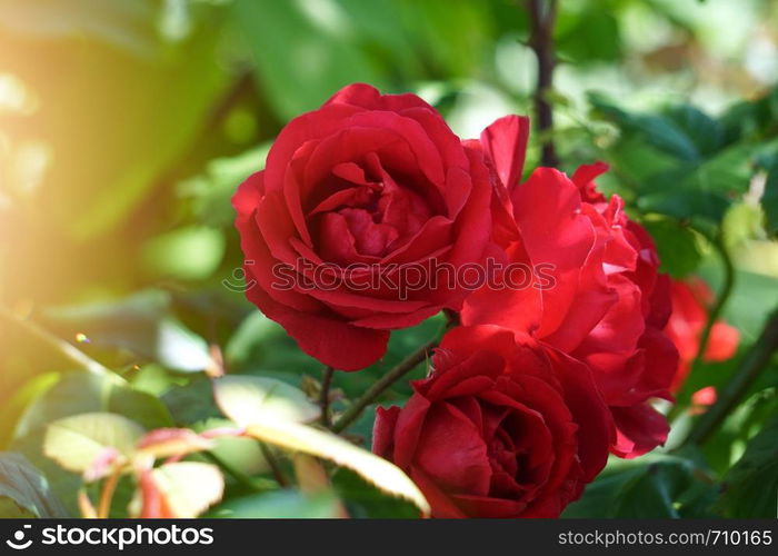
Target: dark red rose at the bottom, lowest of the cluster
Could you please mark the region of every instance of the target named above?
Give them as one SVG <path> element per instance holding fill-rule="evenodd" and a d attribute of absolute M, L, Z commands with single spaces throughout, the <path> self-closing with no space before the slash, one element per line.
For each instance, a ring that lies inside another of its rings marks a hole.
<path fill-rule="evenodd" d="M 379 408 L 373 451 L 401 467 L 435 517 L 557 517 L 605 466 L 614 427 L 590 371 L 529 336 L 459 327 Z"/>

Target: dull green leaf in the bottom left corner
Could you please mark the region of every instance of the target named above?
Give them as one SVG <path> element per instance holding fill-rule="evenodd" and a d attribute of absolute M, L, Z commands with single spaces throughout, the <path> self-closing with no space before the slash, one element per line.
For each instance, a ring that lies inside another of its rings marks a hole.
<path fill-rule="evenodd" d="M 68 514 L 46 477 L 21 454 L 0 451 L 0 518 L 62 518 Z"/>

